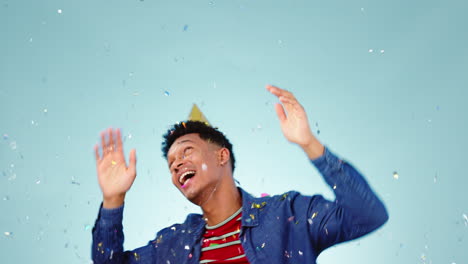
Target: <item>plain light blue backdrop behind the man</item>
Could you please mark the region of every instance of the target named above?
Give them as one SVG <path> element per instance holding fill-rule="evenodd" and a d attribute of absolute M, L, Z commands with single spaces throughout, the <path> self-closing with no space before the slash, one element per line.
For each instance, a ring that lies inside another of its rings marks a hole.
<path fill-rule="evenodd" d="M 122 128 L 126 154 L 137 149 L 126 249 L 198 212 L 171 185 L 160 151 L 193 103 L 233 142 L 246 190 L 333 199 L 284 139 L 271 83 L 296 95 L 319 140 L 366 176 L 390 213 L 319 263 L 468 263 L 467 8 L 0 0 L 0 262 L 90 262 L 101 202 L 93 146 L 110 126 Z"/>

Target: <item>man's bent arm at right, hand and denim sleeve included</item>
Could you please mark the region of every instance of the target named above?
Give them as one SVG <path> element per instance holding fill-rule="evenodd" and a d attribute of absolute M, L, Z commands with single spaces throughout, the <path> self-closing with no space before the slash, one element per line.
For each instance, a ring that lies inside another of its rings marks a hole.
<path fill-rule="evenodd" d="M 281 102 L 275 109 L 284 136 L 302 148 L 336 195 L 334 202 L 314 196 L 296 199 L 292 205 L 295 212 L 307 214 L 303 217 L 318 252 L 383 225 L 388 219 L 383 203 L 351 164 L 336 157 L 315 138 L 304 108 L 294 95 L 275 86 L 266 88 Z"/>

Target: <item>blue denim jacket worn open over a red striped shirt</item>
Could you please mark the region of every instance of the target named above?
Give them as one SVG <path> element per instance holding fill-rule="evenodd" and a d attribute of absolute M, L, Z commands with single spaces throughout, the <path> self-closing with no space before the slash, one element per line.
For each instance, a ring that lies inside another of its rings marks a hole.
<path fill-rule="evenodd" d="M 316 263 L 320 252 L 361 237 L 388 220 L 383 203 L 363 176 L 327 147 L 311 160 L 333 189 L 336 199 L 306 196 L 296 191 L 256 198 L 242 195 L 240 240 L 251 264 Z M 123 206 L 100 208 L 93 228 L 92 259 L 98 263 L 199 263 L 205 221 L 189 214 L 156 234 L 143 247 L 123 249 Z"/>

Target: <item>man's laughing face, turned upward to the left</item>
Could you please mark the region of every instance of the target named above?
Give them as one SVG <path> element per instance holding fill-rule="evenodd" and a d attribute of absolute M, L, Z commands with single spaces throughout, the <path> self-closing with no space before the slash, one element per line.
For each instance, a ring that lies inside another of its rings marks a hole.
<path fill-rule="evenodd" d="M 195 133 L 179 137 L 169 148 L 172 183 L 194 204 L 208 199 L 221 179 L 220 149 Z"/>

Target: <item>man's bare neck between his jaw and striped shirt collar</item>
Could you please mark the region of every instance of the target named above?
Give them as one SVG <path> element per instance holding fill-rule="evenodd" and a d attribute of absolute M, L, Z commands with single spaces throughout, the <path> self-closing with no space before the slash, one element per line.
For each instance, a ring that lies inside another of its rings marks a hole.
<path fill-rule="evenodd" d="M 241 207 L 241 194 L 232 182 L 219 188 L 210 201 L 202 206 L 203 217 L 209 226 L 214 226 L 229 218 Z"/>

